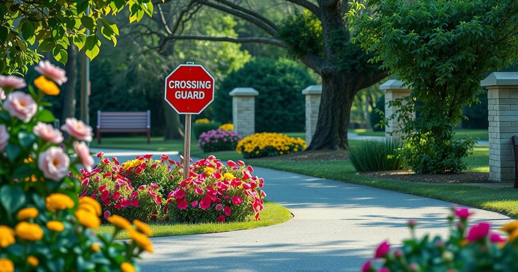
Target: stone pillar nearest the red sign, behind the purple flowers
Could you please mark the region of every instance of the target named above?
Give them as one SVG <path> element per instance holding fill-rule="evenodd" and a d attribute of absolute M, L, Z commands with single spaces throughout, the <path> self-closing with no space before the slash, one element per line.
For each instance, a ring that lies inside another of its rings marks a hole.
<path fill-rule="evenodd" d="M 255 96 L 259 95 L 253 88 L 235 88 L 232 96 L 232 123 L 234 132 L 246 137 L 255 133 Z"/>

